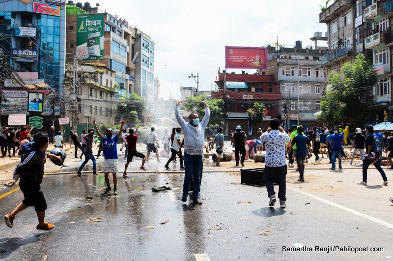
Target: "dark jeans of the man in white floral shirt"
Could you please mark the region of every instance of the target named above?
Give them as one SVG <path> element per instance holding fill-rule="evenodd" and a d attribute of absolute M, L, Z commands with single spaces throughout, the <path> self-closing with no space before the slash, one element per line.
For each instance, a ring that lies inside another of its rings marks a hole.
<path fill-rule="evenodd" d="M 276 194 L 273 187 L 273 178 L 277 177 L 277 181 L 279 182 L 279 199 L 282 201 L 286 201 L 285 192 L 286 192 L 286 172 L 287 166 L 281 167 L 269 167 L 265 166 L 264 175 L 265 175 L 265 184 L 267 190 L 267 196 Z"/>

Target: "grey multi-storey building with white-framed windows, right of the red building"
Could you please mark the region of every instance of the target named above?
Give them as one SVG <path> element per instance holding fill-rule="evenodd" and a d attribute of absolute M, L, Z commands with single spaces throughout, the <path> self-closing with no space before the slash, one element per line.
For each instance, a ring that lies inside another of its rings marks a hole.
<path fill-rule="evenodd" d="M 285 45 L 277 50 L 268 46 L 268 69 L 262 73 L 274 75 L 280 86 L 278 108 L 285 128 L 297 124 L 298 118 L 303 126 L 319 124 L 313 114 L 321 110 L 325 75 L 320 58 L 327 47 L 318 46 L 317 41 L 326 41 L 326 37 L 315 32 L 311 40 L 315 41 L 314 47 L 303 47 L 300 41 L 294 47 Z"/>

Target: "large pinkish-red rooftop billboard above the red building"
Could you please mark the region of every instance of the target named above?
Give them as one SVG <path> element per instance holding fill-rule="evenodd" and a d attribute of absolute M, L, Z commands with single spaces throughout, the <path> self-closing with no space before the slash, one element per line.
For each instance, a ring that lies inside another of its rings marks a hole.
<path fill-rule="evenodd" d="M 267 69 L 267 48 L 225 46 L 225 68 Z"/>

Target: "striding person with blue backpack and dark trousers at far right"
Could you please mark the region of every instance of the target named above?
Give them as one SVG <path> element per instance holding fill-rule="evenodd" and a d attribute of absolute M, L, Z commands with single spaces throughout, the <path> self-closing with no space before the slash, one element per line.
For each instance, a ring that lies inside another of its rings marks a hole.
<path fill-rule="evenodd" d="M 365 149 L 366 149 L 366 157 L 363 160 L 363 180 L 358 182 L 359 185 L 367 185 L 367 169 L 368 166 L 370 166 L 371 163 L 374 164 L 375 168 L 381 173 L 382 179 L 384 180 L 384 185 L 388 185 L 388 178 L 386 177 L 385 171 L 381 167 L 381 158 L 380 158 L 380 151 L 376 151 L 375 148 L 373 148 L 374 144 L 374 127 L 371 125 L 367 125 L 365 128 L 365 133 L 367 136 L 365 137 Z M 382 146 L 382 141 L 380 140 L 381 146 Z M 374 162 L 370 162 L 369 159 L 367 159 L 367 156 L 371 154 L 371 152 L 375 153 L 375 160 Z"/>

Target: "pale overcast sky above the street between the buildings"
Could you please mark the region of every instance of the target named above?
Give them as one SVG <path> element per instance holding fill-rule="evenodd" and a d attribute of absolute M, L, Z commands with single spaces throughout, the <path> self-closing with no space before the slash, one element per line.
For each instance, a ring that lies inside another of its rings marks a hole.
<path fill-rule="evenodd" d="M 97 2 L 153 39 L 154 77 L 160 80 L 164 99 L 169 95 L 180 99 L 180 86 L 197 87 L 188 77 L 191 72 L 199 73 L 200 91 L 214 89 L 218 68 L 225 69 L 225 46 L 261 47 L 276 43 L 277 37 L 280 45 L 301 40 L 310 46 L 314 32 L 327 31 L 326 24 L 319 24 L 318 5 L 324 0 Z"/>

